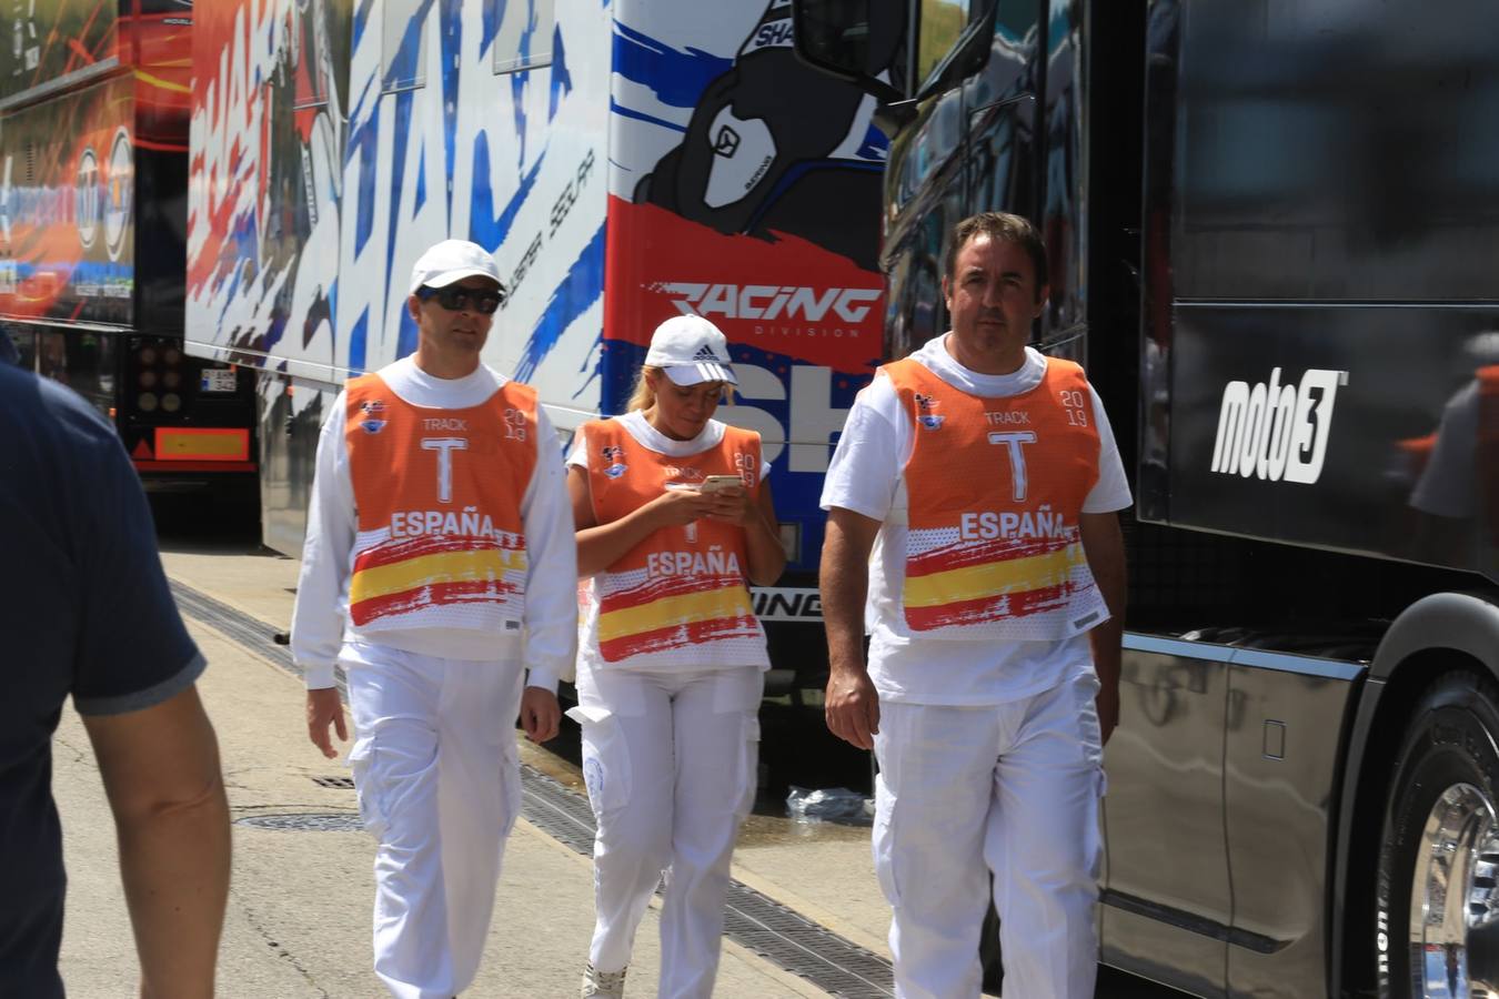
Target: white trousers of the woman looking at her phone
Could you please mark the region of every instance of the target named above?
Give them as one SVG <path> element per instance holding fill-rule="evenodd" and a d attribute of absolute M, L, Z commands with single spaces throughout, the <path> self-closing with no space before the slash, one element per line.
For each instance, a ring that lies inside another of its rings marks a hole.
<path fill-rule="evenodd" d="M 729 861 L 754 803 L 764 678 L 755 666 L 610 672 L 579 666 L 583 777 L 598 819 L 589 962 L 630 963 L 657 882 L 663 999 L 706 998 L 718 975 Z"/>

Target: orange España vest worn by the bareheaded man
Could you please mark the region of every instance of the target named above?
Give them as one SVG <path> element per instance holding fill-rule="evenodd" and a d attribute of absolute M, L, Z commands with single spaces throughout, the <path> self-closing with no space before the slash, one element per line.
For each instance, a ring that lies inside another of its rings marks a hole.
<path fill-rule="evenodd" d="M 1055 641 L 1108 619 L 1078 533 L 1099 479 L 1082 368 L 1049 358 L 1006 398 L 959 391 L 920 361 L 883 368 L 913 424 L 902 613 L 928 638 Z"/>

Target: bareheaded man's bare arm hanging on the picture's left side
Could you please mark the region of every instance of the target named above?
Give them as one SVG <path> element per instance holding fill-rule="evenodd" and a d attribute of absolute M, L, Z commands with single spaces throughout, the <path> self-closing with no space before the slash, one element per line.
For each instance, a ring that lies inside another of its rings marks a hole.
<path fill-rule="evenodd" d="M 863 662 L 863 602 L 878 533 L 880 521 L 833 506 L 818 574 L 827 629 L 827 728 L 860 749 L 874 749 L 880 731 L 880 701 Z"/>

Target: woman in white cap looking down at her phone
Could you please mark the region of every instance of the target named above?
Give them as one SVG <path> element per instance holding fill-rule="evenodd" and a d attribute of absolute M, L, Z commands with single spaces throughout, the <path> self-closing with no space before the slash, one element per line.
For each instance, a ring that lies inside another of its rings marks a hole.
<path fill-rule="evenodd" d="M 663 875 L 658 995 L 709 996 L 718 972 L 769 666 L 748 583 L 785 565 L 760 434 L 712 418 L 735 383 L 714 324 L 667 319 L 627 412 L 585 424 L 568 457 L 579 575 L 594 580 L 568 713 L 598 819 L 583 996 L 624 995 Z"/>

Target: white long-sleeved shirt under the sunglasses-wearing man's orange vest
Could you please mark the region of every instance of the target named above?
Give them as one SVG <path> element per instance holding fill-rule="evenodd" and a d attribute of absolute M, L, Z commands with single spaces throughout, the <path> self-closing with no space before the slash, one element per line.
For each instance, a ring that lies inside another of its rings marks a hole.
<path fill-rule="evenodd" d="M 460 379 L 433 377 L 409 356 L 385 365 L 379 376 L 403 401 L 432 409 L 481 406 L 508 380 L 483 364 Z M 292 611 L 291 652 L 306 672 L 307 686 L 333 686 L 334 662 L 343 641 L 351 640 L 442 659 L 520 659 L 531 671 L 528 686 L 556 689 L 558 677 L 573 672 L 577 544 L 562 463 L 558 461 L 556 431 L 547 415 L 537 410 L 537 469 L 520 500 L 529 563 L 523 637 L 430 628 L 381 631 L 366 637 L 348 616 L 358 518 L 343 433 L 346 409 L 348 397 L 339 392 L 318 437 L 318 472 L 312 484 L 307 539 Z"/>

